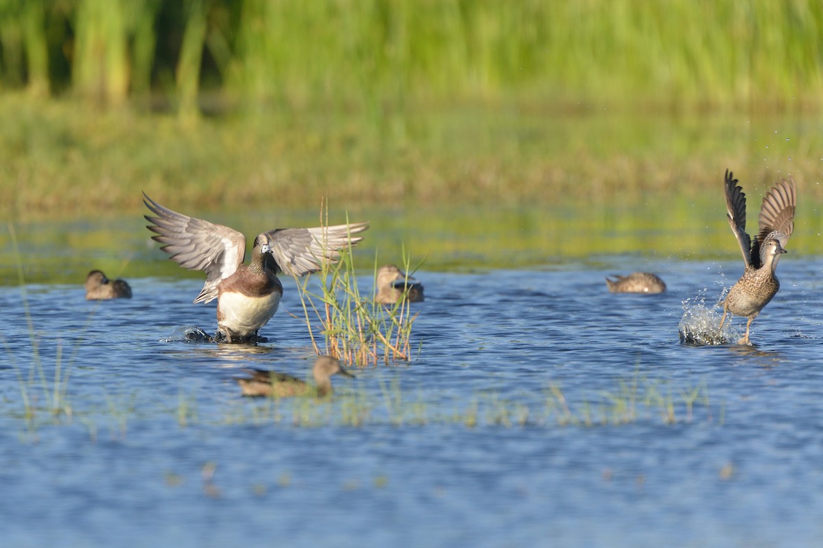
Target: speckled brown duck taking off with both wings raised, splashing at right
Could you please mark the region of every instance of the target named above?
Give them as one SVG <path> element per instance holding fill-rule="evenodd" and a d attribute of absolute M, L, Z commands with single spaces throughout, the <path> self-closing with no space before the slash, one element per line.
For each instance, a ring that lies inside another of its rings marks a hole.
<path fill-rule="evenodd" d="M 774 185 L 763 198 L 758 218 L 759 232 L 754 242 L 746 233 L 746 195 L 737 179 L 726 170 L 726 217 L 732 232 L 737 237 L 746 269 L 723 301 L 723 318 L 720 329 L 726 321 L 727 312 L 748 318 L 746 336 L 738 344 L 751 344 L 749 328 L 763 307 L 769 304 L 778 292 L 780 282 L 774 275 L 780 256 L 786 253 L 783 247 L 794 230 L 794 208 L 797 204 L 797 189 L 791 178 Z"/>

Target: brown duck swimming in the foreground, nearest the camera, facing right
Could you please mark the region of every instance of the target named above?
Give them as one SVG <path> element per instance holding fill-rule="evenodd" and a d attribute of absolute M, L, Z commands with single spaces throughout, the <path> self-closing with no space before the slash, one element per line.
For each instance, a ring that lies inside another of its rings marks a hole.
<path fill-rule="evenodd" d="M 343 369 L 340 361 L 331 356 L 321 356 L 317 358 L 317 361 L 314 361 L 312 375 L 316 386 L 307 385 L 304 380 L 277 371 L 259 369 L 244 371 L 252 375 L 251 378 L 235 379 L 240 385 L 243 395 L 271 398 L 307 395 L 316 395 L 318 398 L 323 398 L 332 395 L 332 375 L 343 375 L 351 378 L 355 376 Z"/>

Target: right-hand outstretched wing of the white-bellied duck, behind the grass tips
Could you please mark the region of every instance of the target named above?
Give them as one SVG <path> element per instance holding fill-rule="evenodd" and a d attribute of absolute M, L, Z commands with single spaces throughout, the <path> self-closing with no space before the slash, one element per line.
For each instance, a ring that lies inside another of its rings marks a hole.
<path fill-rule="evenodd" d="M 333 227 L 276 228 L 263 234 L 268 237 L 272 247 L 277 271 L 290 276 L 302 276 L 321 269 L 323 261 L 336 263 L 340 258 L 340 251 L 363 239 L 353 235 L 366 228 L 369 228 L 369 223 L 351 223 Z"/>

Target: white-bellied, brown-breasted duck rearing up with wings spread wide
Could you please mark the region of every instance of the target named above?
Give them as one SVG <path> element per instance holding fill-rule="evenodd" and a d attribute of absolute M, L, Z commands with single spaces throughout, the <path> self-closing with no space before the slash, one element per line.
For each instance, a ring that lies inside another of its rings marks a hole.
<path fill-rule="evenodd" d="M 189 270 L 203 270 L 206 283 L 194 302 L 217 299 L 217 329 L 229 343 L 254 342 L 258 329 L 271 320 L 283 295 L 277 274 L 302 276 L 316 272 L 323 260 L 332 263 L 339 251 L 362 237 L 368 223 L 319 228 L 277 228 L 254 238 L 252 259 L 244 265 L 246 239 L 233 228 L 167 210 L 143 193 L 156 217 L 146 228 L 170 259 Z"/>

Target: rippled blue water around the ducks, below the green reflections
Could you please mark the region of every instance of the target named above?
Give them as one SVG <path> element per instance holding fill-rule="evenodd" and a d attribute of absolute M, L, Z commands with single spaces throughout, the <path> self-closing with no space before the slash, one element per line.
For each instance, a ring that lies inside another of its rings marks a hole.
<path fill-rule="evenodd" d="M 678 339 L 690 307 L 719 320 L 731 261 L 421 270 L 412 360 L 331 403 L 235 384 L 305 376 L 291 281 L 257 347 L 165 342 L 215 329 L 197 280 L 0 288 L 0 544 L 820 546 L 821 266 L 781 261 L 755 348 Z M 669 290 L 607 292 L 634 269 Z"/>

